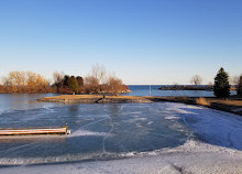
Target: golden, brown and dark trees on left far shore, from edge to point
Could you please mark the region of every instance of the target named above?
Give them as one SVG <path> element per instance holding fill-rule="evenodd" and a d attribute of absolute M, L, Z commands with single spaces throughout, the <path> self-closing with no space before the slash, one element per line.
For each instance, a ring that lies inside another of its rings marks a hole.
<path fill-rule="evenodd" d="M 128 93 L 129 87 L 106 67 L 95 65 L 87 77 L 53 74 L 54 83 L 33 72 L 11 72 L 2 77 L 0 93 L 114 94 Z"/>

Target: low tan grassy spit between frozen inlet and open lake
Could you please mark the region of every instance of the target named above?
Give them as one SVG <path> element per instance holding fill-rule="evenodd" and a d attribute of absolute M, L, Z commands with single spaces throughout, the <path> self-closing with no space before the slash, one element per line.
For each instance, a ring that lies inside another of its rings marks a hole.
<path fill-rule="evenodd" d="M 101 96 L 101 95 L 62 95 L 40 98 L 44 102 L 64 104 L 118 104 L 118 102 L 183 102 L 206 106 L 212 109 L 233 112 L 242 116 L 242 97 L 230 98 L 198 98 L 198 97 L 136 97 L 136 96 Z"/>

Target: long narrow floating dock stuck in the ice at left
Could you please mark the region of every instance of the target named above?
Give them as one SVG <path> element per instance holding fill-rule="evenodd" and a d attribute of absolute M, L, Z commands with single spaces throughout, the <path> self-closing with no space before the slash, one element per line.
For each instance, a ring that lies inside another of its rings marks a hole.
<path fill-rule="evenodd" d="M 37 135 L 37 134 L 70 134 L 68 126 L 45 127 L 45 128 L 7 128 L 0 129 L 0 137 L 3 135 Z"/>

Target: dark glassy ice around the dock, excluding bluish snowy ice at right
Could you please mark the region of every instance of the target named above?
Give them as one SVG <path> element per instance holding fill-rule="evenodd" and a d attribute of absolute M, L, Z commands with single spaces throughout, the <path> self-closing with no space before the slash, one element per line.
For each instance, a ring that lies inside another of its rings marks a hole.
<path fill-rule="evenodd" d="M 112 159 L 183 144 L 190 132 L 166 104 L 48 105 L 0 113 L 1 128 L 68 123 L 70 135 L 0 140 L 1 164 Z M 12 106 L 13 108 L 16 108 Z"/>

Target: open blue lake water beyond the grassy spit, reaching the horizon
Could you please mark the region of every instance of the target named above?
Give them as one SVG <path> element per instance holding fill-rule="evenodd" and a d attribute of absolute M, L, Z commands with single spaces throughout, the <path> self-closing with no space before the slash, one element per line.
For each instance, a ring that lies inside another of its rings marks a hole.
<path fill-rule="evenodd" d="M 161 85 L 129 85 L 132 93 L 124 94 L 129 96 L 187 96 L 187 97 L 215 97 L 213 91 L 210 90 L 160 90 Z M 235 95 L 235 91 L 231 91 Z"/>

